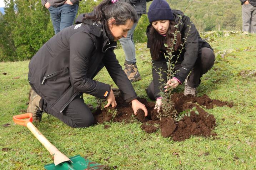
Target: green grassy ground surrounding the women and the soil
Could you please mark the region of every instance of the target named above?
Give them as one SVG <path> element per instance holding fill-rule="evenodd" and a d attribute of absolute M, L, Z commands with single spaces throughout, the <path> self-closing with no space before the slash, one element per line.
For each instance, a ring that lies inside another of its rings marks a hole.
<path fill-rule="evenodd" d="M 236 34 L 217 37 L 210 42 L 215 49 L 214 67 L 203 76 L 199 96 L 233 101 L 234 107 L 207 110 L 216 118 L 217 137 L 191 137 L 173 142 L 157 131 L 147 134 L 140 123 L 106 123 L 89 128 L 70 128 L 46 114 L 34 123 L 45 137 L 67 156 L 80 154 L 117 169 L 256 169 L 256 77 L 240 74 L 256 69 L 256 35 Z M 121 64 L 122 49 L 115 51 Z M 151 81 L 151 62 L 146 44 L 136 46 L 142 80 L 134 83 L 137 94 L 146 97 L 145 88 Z M 12 116 L 24 113 L 30 89 L 27 82 L 29 61 L 0 63 L 0 169 L 43 169 L 53 163 L 50 154 L 26 128 L 14 124 Z M 2 73 L 7 73 L 3 75 Z M 20 76 L 19 79 L 13 79 Z M 114 83 L 106 70 L 96 77 Z M 175 91 L 182 92 L 184 86 Z M 85 102 L 94 103 L 85 95 Z M 5 127 L 4 125 L 10 125 Z"/>

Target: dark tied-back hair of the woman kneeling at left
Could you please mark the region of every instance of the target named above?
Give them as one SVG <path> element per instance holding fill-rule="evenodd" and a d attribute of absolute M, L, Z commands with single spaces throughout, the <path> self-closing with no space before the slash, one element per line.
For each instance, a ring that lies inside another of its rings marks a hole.
<path fill-rule="evenodd" d="M 114 18 L 114 25 L 125 25 L 127 20 L 138 22 L 135 9 L 126 2 L 116 1 L 112 4 L 111 0 L 103 0 L 99 5 L 94 8 L 94 15 L 86 15 L 92 21 L 104 21 L 108 23 L 109 19 Z"/>

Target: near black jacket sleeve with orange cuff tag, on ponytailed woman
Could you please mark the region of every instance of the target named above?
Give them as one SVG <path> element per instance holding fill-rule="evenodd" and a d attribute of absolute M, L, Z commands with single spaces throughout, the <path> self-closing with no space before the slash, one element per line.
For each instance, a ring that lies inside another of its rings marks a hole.
<path fill-rule="evenodd" d="M 69 39 L 70 46 L 70 81 L 78 91 L 100 99 L 110 93 L 110 85 L 87 77 L 89 60 L 95 50 L 94 40 L 84 32 L 77 32 Z M 86 48 L 85 48 L 86 47 Z"/>

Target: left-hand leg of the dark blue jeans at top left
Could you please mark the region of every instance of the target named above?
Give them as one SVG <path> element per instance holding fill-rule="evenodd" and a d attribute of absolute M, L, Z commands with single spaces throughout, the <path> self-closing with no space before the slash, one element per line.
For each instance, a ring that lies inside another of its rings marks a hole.
<path fill-rule="evenodd" d="M 54 28 L 54 33 L 60 32 L 60 14 L 57 7 L 50 6 L 48 8 L 51 16 L 51 22 Z"/>

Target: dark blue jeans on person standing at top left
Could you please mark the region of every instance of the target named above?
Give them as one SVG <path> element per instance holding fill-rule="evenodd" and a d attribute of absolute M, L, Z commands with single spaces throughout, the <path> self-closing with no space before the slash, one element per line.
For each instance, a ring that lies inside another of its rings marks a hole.
<path fill-rule="evenodd" d="M 57 34 L 66 27 L 73 25 L 78 5 L 63 4 L 58 7 L 50 6 L 48 8 L 51 15 L 51 22 L 54 27 L 54 32 Z"/>

